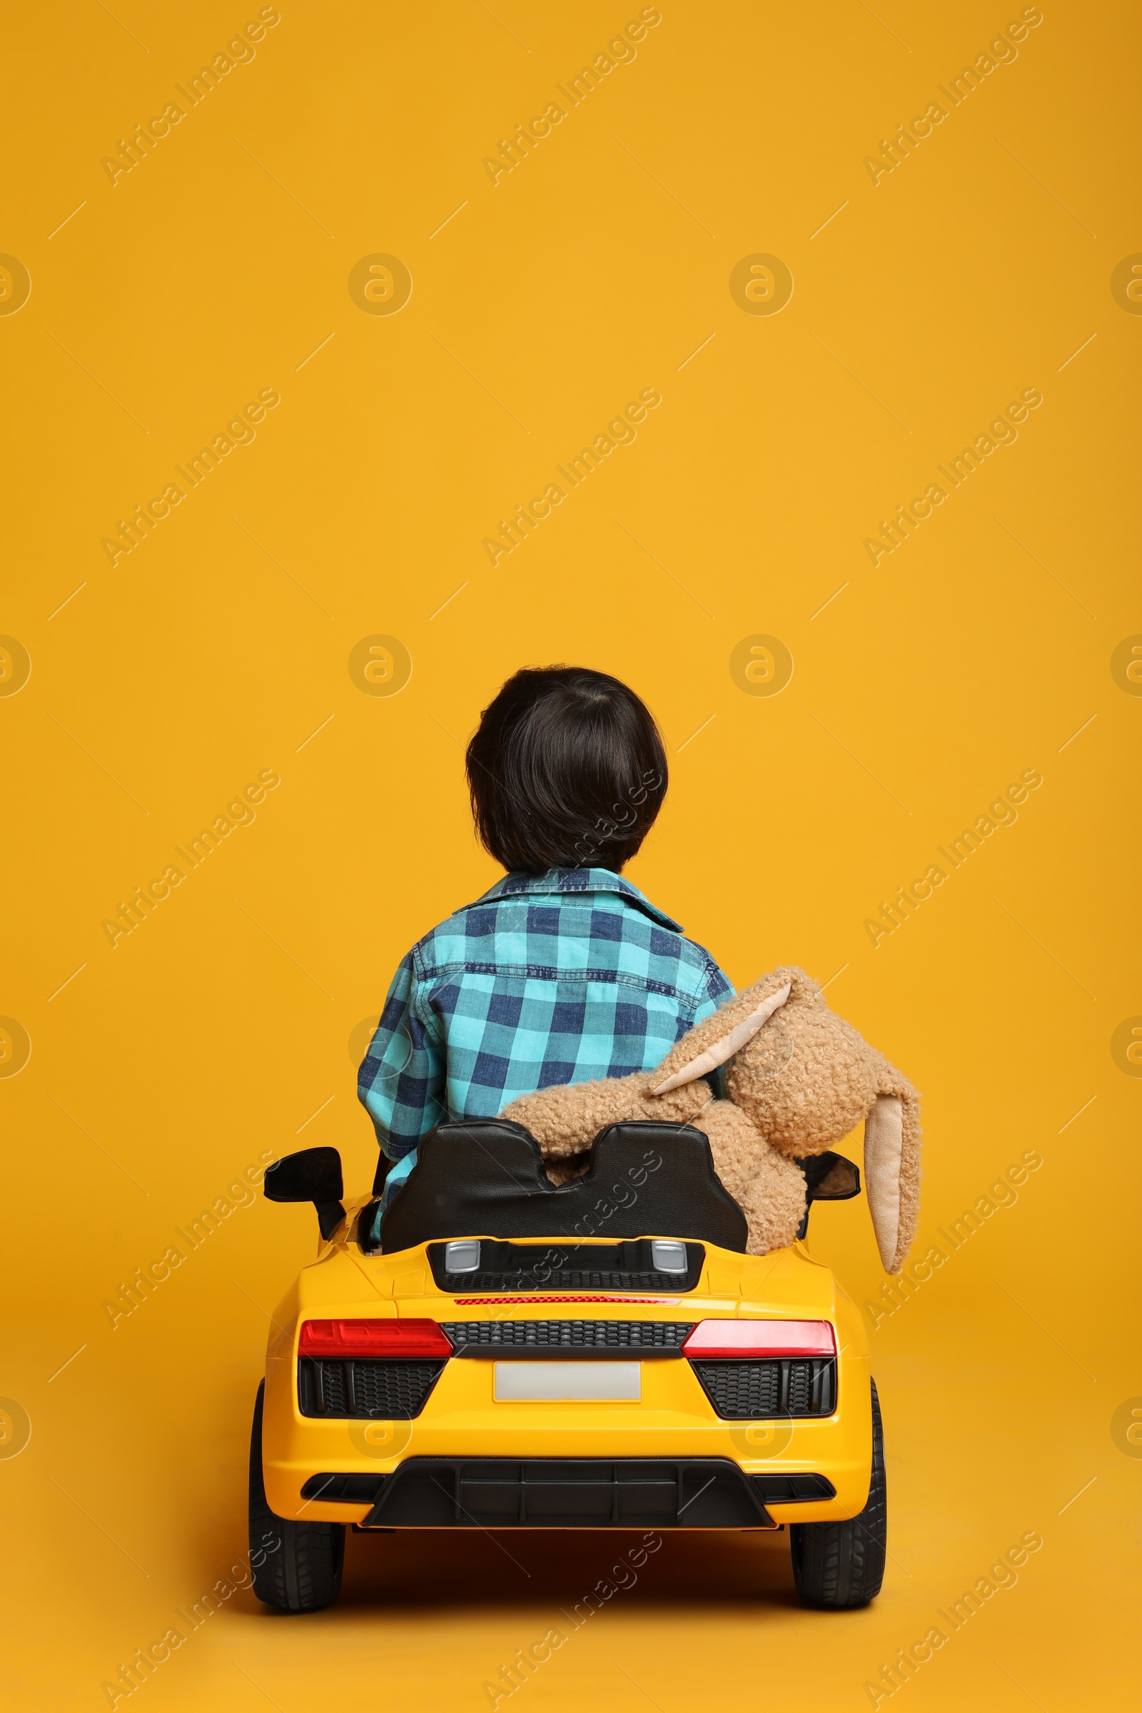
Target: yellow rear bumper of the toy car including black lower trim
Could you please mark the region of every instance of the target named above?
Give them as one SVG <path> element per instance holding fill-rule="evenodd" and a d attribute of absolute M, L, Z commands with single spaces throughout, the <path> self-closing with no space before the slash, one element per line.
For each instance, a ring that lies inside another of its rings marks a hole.
<path fill-rule="evenodd" d="M 271 1360 L 264 1418 L 265 1492 L 289 1519 L 774 1528 L 856 1516 L 868 1497 L 863 1357 L 841 1357 L 832 1415 L 733 1424 L 712 1418 L 678 1360 L 644 1364 L 635 1405 L 574 1410 L 497 1403 L 491 1362 L 449 1362 L 423 1415 L 402 1422 L 301 1415 L 291 1367 Z"/>

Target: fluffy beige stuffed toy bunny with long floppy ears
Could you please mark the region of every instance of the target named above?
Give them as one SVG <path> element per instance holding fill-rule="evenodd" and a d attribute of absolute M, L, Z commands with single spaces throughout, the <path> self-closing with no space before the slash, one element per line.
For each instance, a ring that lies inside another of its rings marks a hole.
<path fill-rule="evenodd" d="M 728 1100 L 704 1081 L 726 1065 Z M 865 1120 L 865 1192 L 880 1259 L 899 1273 L 919 1208 L 916 1089 L 851 1024 L 829 1011 L 803 970 L 762 976 L 690 1030 L 656 1071 L 522 1095 L 503 1119 L 526 1125 L 556 1182 L 586 1170 L 608 1124 L 657 1119 L 690 1124 L 711 1143 L 717 1175 L 745 1211 L 748 1254 L 796 1237 L 805 1175 L 794 1163 L 822 1155 Z"/>

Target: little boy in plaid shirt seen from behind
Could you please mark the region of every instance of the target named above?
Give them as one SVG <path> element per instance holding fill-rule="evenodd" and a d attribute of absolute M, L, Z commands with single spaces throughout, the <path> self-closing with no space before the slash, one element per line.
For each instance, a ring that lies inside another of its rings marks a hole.
<path fill-rule="evenodd" d="M 389 988 L 358 1079 L 385 1201 L 435 1124 L 649 1071 L 733 994 L 622 879 L 666 795 L 663 740 L 625 683 L 586 666 L 517 671 L 467 745 L 467 785 L 507 875 L 418 940 Z"/>

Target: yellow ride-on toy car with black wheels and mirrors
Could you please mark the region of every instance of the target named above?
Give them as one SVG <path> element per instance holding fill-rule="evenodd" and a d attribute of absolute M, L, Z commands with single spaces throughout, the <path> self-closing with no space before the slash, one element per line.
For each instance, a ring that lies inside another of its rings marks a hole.
<path fill-rule="evenodd" d="M 859 1192 L 839 1155 L 801 1168 L 810 1201 Z M 348 1523 L 788 1525 L 806 1602 L 878 1593 L 885 1471 L 861 1316 L 805 1225 L 745 1254 L 699 1131 L 613 1124 L 587 1175 L 556 1189 L 522 1125 L 464 1120 L 421 1141 L 389 1208 L 342 1203 L 334 1148 L 281 1160 L 265 1194 L 313 1201 L 322 1242 L 276 1310 L 253 1413 L 260 1600 L 336 1600 Z"/>

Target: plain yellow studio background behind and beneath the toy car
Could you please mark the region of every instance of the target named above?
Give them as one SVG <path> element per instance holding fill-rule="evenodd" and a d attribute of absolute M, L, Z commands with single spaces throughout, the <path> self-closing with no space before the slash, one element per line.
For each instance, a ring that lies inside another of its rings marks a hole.
<path fill-rule="evenodd" d="M 265 1153 L 337 1144 L 366 1187 L 349 1036 L 407 946 L 497 877 L 461 747 L 512 670 L 551 661 L 627 678 L 671 745 L 632 879 L 738 983 L 836 973 L 834 1007 L 925 1091 L 914 1254 L 1026 1149 L 1043 1168 L 871 1333 L 875 1605 L 800 1609 L 788 1535 L 671 1538 L 514 1703 L 868 1706 L 880 1665 L 1029 1530 L 1019 1585 L 901 1694 L 1132 1703 L 1139 1465 L 1111 1417 L 1142 1391 L 1142 1088 L 1109 1043 L 1142 1011 L 1142 707 L 1109 661 L 1142 630 L 1142 320 L 1109 278 L 1142 250 L 1139 19 L 1043 10 L 877 185 L 865 156 L 1019 7 L 669 0 L 495 187 L 483 156 L 637 7 L 283 3 L 115 185 L 101 158 L 257 7 L 9 21 L 0 248 L 33 281 L 0 319 L 0 630 L 33 663 L 0 697 L 0 1011 L 33 1045 L 0 1081 L 0 1391 L 33 1425 L 0 1466 L 12 1706 L 106 1706 L 103 1680 L 245 1550 L 265 1310 L 312 1254 L 312 1209 L 259 1197 L 115 1331 L 101 1304 Z M 777 315 L 729 295 L 758 252 L 793 272 Z M 396 315 L 349 296 L 372 254 L 411 271 Z M 116 519 L 265 387 L 257 440 L 111 567 Z M 483 536 L 644 387 L 663 404 L 637 442 L 493 570 Z M 1017 444 L 873 569 L 865 536 L 1026 387 L 1043 406 Z M 349 677 L 373 634 L 413 656 L 399 695 Z M 793 654 L 779 695 L 729 673 L 755 634 Z M 880 899 L 1031 767 L 1019 822 L 873 949 Z M 111 949 L 101 920 L 262 769 L 281 786 L 257 821 Z M 812 1240 L 880 1298 L 863 1204 L 818 1209 Z M 351 1537 L 336 1609 L 236 1595 L 147 1704 L 490 1706 L 485 1680 L 622 1543 L 505 1545 Z"/>

